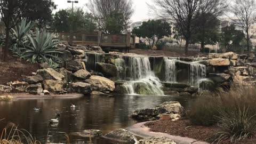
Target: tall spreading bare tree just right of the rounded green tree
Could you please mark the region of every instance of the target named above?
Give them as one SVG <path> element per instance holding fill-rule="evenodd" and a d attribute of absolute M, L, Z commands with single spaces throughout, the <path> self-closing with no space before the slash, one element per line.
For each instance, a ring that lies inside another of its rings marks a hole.
<path fill-rule="evenodd" d="M 188 45 L 193 31 L 193 19 L 202 4 L 202 0 L 154 0 L 159 7 L 158 15 L 169 19 L 186 40 L 185 53 L 188 55 Z"/>

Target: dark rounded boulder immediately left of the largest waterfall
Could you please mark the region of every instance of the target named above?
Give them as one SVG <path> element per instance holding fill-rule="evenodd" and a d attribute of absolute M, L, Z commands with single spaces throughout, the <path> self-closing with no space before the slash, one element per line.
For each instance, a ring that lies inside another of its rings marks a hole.
<path fill-rule="evenodd" d="M 96 67 L 97 67 L 98 71 L 106 77 L 116 77 L 117 76 L 117 68 L 115 65 L 97 62 Z"/>

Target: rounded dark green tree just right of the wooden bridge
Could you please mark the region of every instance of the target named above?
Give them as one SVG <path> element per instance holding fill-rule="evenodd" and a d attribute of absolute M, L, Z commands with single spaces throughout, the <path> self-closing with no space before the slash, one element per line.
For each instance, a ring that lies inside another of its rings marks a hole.
<path fill-rule="evenodd" d="M 164 36 L 169 37 L 172 34 L 170 24 L 163 20 L 148 20 L 147 22 L 143 22 L 139 28 L 134 28 L 132 33 L 138 37 L 145 38 L 151 46 L 154 46 Z"/>

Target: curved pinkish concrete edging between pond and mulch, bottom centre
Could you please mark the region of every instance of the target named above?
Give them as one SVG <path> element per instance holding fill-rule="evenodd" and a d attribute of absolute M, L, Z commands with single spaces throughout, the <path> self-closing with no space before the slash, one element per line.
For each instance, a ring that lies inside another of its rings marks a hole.
<path fill-rule="evenodd" d="M 151 121 L 151 122 L 154 122 L 154 121 Z M 177 144 L 192 144 L 192 143 L 193 144 L 210 144 L 207 142 L 198 141 L 198 140 L 191 139 L 191 138 L 169 135 L 167 133 L 151 132 L 150 128 L 144 125 L 145 123 L 148 123 L 148 122 L 134 124 L 130 127 L 127 127 L 126 130 L 129 131 L 130 133 L 137 135 L 138 137 L 142 137 L 142 138 L 153 137 L 153 136 L 166 137 L 166 138 L 176 141 Z"/>

